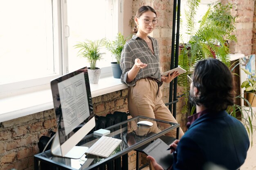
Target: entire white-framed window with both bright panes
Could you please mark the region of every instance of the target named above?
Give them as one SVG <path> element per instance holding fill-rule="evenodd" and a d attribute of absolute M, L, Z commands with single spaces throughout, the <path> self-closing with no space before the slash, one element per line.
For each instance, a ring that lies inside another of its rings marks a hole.
<path fill-rule="evenodd" d="M 118 0 L 0 2 L 0 93 L 49 84 L 83 66 L 77 42 L 117 34 Z M 108 51 L 103 51 L 108 53 Z M 108 53 L 98 67 L 110 66 Z"/>

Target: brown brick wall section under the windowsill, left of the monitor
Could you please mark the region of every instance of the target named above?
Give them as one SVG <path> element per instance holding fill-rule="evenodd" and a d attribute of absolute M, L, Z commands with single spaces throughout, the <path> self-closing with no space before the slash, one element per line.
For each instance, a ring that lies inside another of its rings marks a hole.
<path fill-rule="evenodd" d="M 55 130 L 54 111 L 46 110 L 0 124 L 0 170 L 34 170 L 34 155 L 42 135 Z"/>

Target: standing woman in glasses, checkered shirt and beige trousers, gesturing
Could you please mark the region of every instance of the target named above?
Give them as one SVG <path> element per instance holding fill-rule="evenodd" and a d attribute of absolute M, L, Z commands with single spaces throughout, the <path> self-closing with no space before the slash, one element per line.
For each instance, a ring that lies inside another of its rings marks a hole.
<path fill-rule="evenodd" d="M 150 37 L 157 24 L 157 14 L 150 6 L 140 7 L 134 18 L 132 38 L 126 42 L 121 54 L 121 82 L 128 88 L 128 110 L 132 117 L 138 115 L 177 123 L 170 110 L 162 101 L 159 87 L 163 82 L 170 83 L 179 74 L 174 72 L 161 76 L 159 46 Z M 176 130 L 167 135 L 176 137 Z M 179 138 L 184 135 L 180 129 Z"/>

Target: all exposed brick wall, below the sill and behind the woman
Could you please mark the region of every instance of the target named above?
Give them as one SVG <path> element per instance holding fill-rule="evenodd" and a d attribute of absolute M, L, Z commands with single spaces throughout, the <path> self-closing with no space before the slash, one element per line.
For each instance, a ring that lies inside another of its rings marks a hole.
<path fill-rule="evenodd" d="M 233 11 L 237 16 L 236 32 L 238 43 L 230 43 L 231 52 L 244 53 L 249 55 L 256 50 L 256 31 L 255 31 L 255 13 L 254 0 L 232 0 L 235 4 Z M 157 38 L 160 47 L 160 62 L 162 71 L 167 71 L 171 60 L 171 33 L 172 33 L 172 13 L 173 1 L 169 0 L 133 0 L 132 13 L 141 5 L 150 5 L 156 11 L 159 23 L 153 32 L 153 37 Z M 128 21 L 131 29 L 133 27 L 132 19 Z M 169 85 L 164 84 L 161 87 L 164 102 L 168 102 Z M 181 95 L 181 89 L 178 87 L 177 94 Z M 99 116 L 113 113 L 115 110 L 127 112 L 127 89 L 109 93 L 106 95 L 94 97 L 92 99 L 94 112 Z M 184 105 L 181 98 L 177 103 L 177 121 L 182 129 L 186 130 L 186 115 L 180 114 Z M 42 135 L 49 136 L 50 130 L 56 129 L 54 111 L 45 110 L 33 115 L 20 117 L 0 124 L 0 170 L 16 168 L 17 170 L 33 170 L 33 155 L 39 152 L 37 143 Z M 135 152 L 129 153 L 129 169 L 135 169 Z"/>

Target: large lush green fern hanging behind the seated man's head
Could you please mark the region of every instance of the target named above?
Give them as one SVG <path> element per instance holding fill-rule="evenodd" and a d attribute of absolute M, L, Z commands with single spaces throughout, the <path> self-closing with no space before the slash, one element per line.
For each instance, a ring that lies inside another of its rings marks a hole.
<path fill-rule="evenodd" d="M 179 85 L 183 87 L 186 104 L 182 108 L 182 113 L 188 111 L 189 82 L 187 75 L 193 71 L 198 61 L 208 57 L 216 57 L 227 66 L 230 65 L 229 48 L 225 46 L 225 41 L 237 41 L 234 31 L 234 21 L 230 13 L 231 4 L 222 5 L 221 3 L 211 4 L 209 9 L 200 20 L 197 31 L 194 29 L 194 17 L 200 0 L 188 0 L 189 11 L 185 10 L 187 34 L 189 41 L 180 48 L 179 66 L 187 72 L 179 76 Z M 223 24 L 223 22 L 228 24 Z M 216 44 L 218 42 L 218 45 Z"/>

